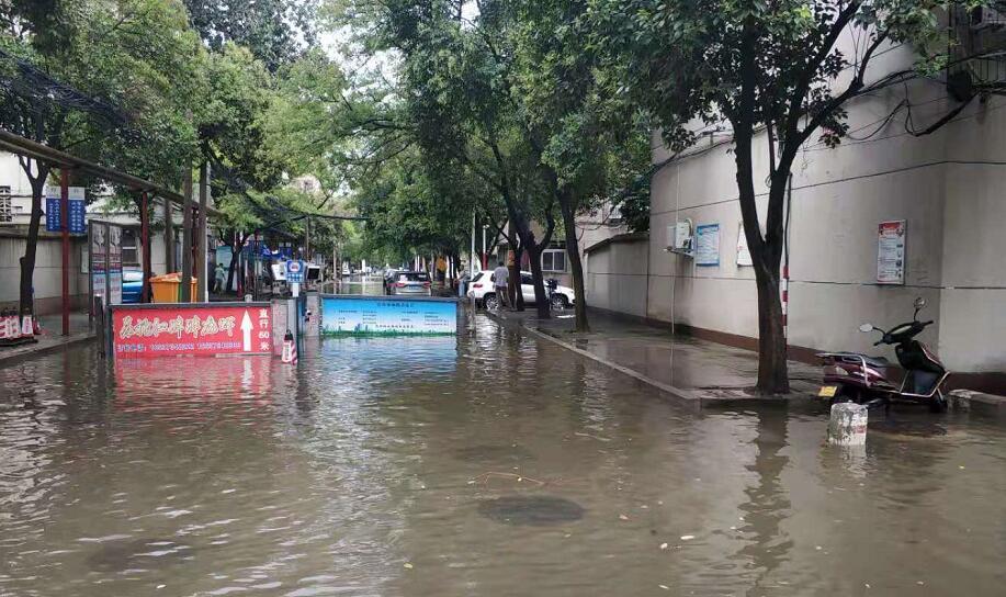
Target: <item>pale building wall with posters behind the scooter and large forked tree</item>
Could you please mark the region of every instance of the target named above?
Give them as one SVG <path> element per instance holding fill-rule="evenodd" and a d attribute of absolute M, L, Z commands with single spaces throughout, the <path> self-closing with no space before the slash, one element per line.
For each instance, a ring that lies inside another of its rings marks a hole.
<path fill-rule="evenodd" d="M 891 49 L 873 76 L 912 59 L 905 48 Z M 917 129 L 957 105 L 935 81 L 913 82 L 908 93 Z M 974 101 L 925 137 L 905 132 L 905 110 L 877 131 L 904 98 L 896 86 L 849 104 L 852 136 L 861 140 L 829 149 L 813 138 L 793 167 L 790 343 L 878 353 L 875 338 L 858 325 L 900 323 L 911 317 L 913 298 L 925 296 L 924 316 L 938 324 L 920 339 L 937 345 L 948 367 L 1006 371 L 1006 348 L 996 341 L 1006 337 L 1006 98 Z M 755 168 L 767 174 L 765 143 L 764 135 L 756 140 Z M 654 177 L 647 316 L 754 338 L 754 274 L 736 266 L 741 212 L 731 149 L 727 135 L 705 139 Z M 655 162 L 665 157 L 655 149 Z M 764 216 L 767 189 L 755 178 Z M 664 250 L 667 226 L 683 218 L 720 224 L 720 267 Z M 877 226 L 886 219 L 907 221 L 904 286 L 875 284 Z"/>

